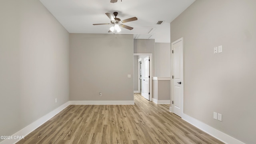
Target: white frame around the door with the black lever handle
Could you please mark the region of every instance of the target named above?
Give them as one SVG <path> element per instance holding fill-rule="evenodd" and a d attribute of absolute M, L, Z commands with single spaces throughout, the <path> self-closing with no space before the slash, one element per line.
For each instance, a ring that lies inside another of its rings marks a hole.
<path fill-rule="evenodd" d="M 176 41 L 174 41 L 174 42 L 172 42 L 172 44 L 171 44 L 171 56 L 172 56 L 172 58 L 171 58 L 171 65 L 172 65 L 172 70 L 171 70 L 171 76 L 174 76 L 174 56 L 173 56 L 173 54 L 172 54 L 172 50 L 173 50 L 173 45 L 174 44 L 176 44 L 176 43 L 178 43 L 178 42 L 180 42 L 180 41 L 182 41 L 182 74 L 181 74 L 181 82 L 182 82 L 182 85 L 181 85 L 181 89 L 182 89 L 182 92 L 181 92 L 181 98 L 180 98 L 180 100 L 181 100 L 181 111 L 182 111 L 182 114 L 180 115 L 180 117 L 183 117 L 183 94 L 184 94 L 184 67 L 183 67 L 183 58 L 184 58 L 184 54 L 183 54 L 183 51 L 184 51 L 184 47 L 183 47 L 183 37 L 182 38 L 179 38 L 178 40 L 176 40 Z M 174 79 L 172 79 L 171 78 L 171 100 L 173 101 L 173 98 L 174 98 Z M 170 111 L 171 112 L 174 112 L 174 105 L 172 104 L 172 101 L 171 101 L 171 108 L 170 108 Z"/>

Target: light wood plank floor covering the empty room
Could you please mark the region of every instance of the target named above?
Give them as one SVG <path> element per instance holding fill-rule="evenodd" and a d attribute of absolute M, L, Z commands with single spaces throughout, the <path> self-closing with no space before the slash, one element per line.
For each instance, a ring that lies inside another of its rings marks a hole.
<path fill-rule="evenodd" d="M 224 144 L 134 94 L 135 105 L 70 105 L 17 144 Z"/>

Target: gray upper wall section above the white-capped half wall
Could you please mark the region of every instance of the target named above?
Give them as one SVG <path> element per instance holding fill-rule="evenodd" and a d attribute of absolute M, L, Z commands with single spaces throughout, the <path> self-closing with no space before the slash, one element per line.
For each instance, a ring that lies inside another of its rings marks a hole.
<path fill-rule="evenodd" d="M 156 42 L 155 48 L 155 76 L 170 77 L 171 76 L 171 46 L 170 43 Z"/>

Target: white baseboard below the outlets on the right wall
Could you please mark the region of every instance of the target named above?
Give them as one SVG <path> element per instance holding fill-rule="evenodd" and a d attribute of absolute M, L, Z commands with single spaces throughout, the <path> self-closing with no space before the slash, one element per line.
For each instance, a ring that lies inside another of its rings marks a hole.
<path fill-rule="evenodd" d="M 233 138 L 225 134 L 224 132 L 212 128 L 211 126 L 208 126 L 207 124 L 204 124 L 203 122 L 200 122 L 199 120 L 192 118 L 191 116 L 188 116 L 186 114 L 183 114 L 182 119 L 192 124 L 193 126 L 196 126 L 200 130 L 210 134 L 214 138 L 217 138 L 218 140 L 224 142 L 225 144 L 245 144 L 240 140 L 237 140 L 236 138 Z"/>

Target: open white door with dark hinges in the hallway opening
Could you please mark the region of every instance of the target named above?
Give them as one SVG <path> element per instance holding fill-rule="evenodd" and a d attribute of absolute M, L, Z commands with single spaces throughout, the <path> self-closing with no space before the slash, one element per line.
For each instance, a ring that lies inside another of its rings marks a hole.
<path fill-rule="evenodd" d="M 142 93 L 141 95 L 144 96 L 147 100 L 149 100 L 149 56 L 146 56 L 143 60 L 142 66 Z"/>

